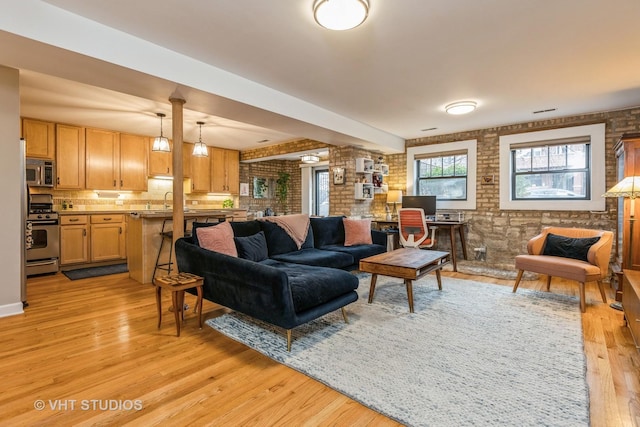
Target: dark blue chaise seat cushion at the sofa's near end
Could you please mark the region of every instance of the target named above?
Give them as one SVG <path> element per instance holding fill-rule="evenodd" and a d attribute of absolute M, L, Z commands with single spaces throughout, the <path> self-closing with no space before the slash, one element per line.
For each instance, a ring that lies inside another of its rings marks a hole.
<path fill-rule="evenodd" d="M 263 263 L 284 271 L 289 279 L 296 313 L 327 303 L 358 289 L 358 278 L 335 268 L 292 265 L 277 260 Z"/>

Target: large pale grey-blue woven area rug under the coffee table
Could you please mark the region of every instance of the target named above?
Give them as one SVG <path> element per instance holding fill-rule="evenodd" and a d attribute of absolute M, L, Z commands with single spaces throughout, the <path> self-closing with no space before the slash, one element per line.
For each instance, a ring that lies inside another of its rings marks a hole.
<path fill-rule="evenodd" d="M 578 300 L 434 276 L 414 283 L 370 276 L 347 307 L 293 331 L 230 313 L 207 324 L 409 426 L 586 426 Z"/>

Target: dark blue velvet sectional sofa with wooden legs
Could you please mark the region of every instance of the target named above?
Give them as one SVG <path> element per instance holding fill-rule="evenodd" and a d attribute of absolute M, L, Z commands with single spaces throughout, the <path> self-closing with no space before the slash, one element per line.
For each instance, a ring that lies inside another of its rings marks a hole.
<path fill-rule="evenodd" d="M 286 329 L 288 350 L 294 327 L 338 308 L 347 320 L 344 306 L 358 299 L 358 278 L 349 271 L 357 269 L 361 258 L 386 251 L 386 235 L 375 230 L 371 245 L 340 245 L 342 217 L 311 218 L 300 249 L 274 223 L 230 224 L 236 243 L 239 238 L 259 237 L 266 242 L 268 257 L 253 261 L 206 250 L 194 230 L 194 237 L 176 242 L 178 269 L 204 278 L 205 299 Z"/>

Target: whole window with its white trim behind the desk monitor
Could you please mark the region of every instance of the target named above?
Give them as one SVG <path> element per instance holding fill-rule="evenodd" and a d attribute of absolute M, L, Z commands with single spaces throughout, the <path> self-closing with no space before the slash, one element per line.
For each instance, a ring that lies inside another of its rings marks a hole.
<path fill-rule="evenodd" d="M 476 208 L 477 141 L 407 148 L 406 195 L 434 195 L 438 209 Z"/>

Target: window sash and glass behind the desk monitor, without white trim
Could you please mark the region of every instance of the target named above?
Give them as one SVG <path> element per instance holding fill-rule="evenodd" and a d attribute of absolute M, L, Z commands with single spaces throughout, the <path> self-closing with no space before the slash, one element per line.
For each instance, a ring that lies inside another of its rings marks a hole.
<path fill-rule="evenodd" d="M 466 151 L 416 157 L 416 195 L 438 200 L 467 200 Z"/>

